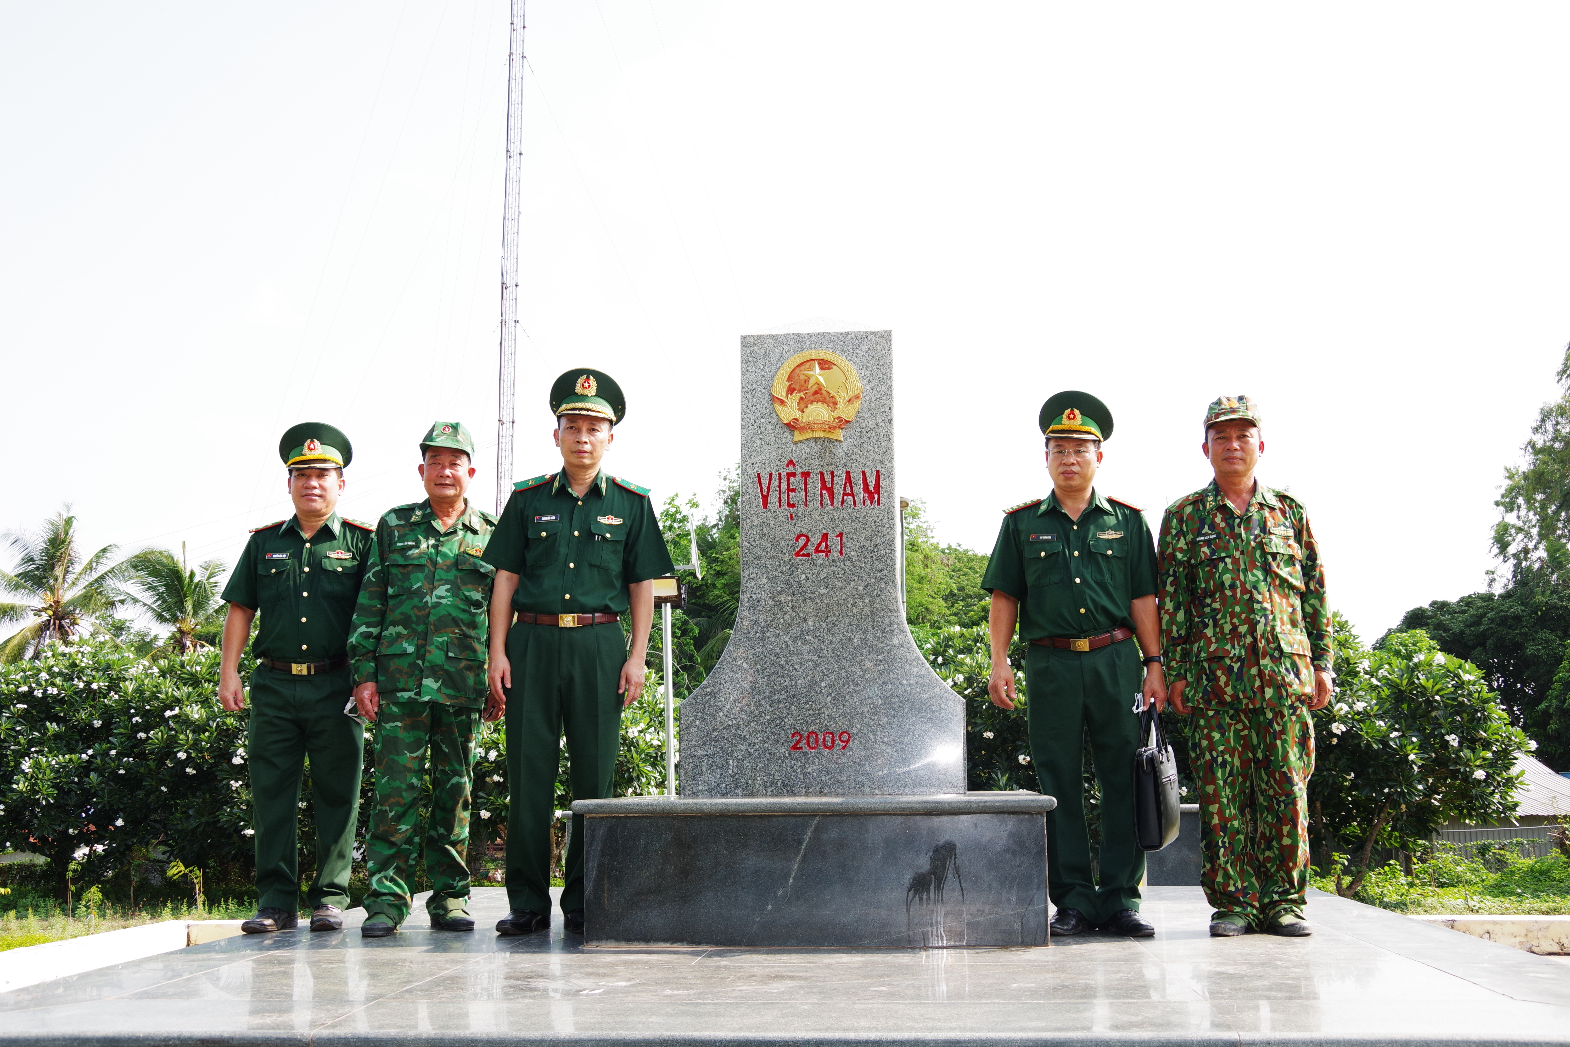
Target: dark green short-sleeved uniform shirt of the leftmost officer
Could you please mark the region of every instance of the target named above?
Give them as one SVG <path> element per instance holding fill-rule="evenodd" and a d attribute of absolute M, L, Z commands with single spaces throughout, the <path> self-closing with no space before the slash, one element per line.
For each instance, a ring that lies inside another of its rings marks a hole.
<path fill-rule="evenodd" d="M 251 653 L 317 662 L 345 651 L 372 529 L 333 513 L 309 538 L 300 518 L 257 527 L 223 598 L 259 611 Z"/>

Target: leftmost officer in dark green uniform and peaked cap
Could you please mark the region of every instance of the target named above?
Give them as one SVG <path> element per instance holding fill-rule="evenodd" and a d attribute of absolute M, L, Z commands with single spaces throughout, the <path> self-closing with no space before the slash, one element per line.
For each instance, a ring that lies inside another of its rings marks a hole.
<path fill-rule="evenodd" d="M 350 852 L 360 807 L 360 722 L 344 716 L 350 695 L 349 623 L 371 551 L 369 524 L 339 516 L 349 436 L 322 422 L 284 433 L 278 454 L 289 469 L 295 515 L 251 532 L 223 598 L 223 666 L 218 700 L 245 706 L 240 656 L 261 612 L 251 655 L 246 758 L 256 832 L 257 912 L 246 934 L 287 931 L 298 921 L 298 802 L 311 760 L 316 876 L 306 892 L 312 931 L 339 931 L 349 904 Z"/>

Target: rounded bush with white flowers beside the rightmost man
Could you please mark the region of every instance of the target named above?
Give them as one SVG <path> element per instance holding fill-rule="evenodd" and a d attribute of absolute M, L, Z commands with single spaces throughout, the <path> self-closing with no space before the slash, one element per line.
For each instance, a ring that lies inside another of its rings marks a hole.
<path fill-rule="evenodd" d="M 1342 623 L 1344 625 L 1344 623 Z M 1355 895 L 1375 848 L 1411 849 L 1446 821 L 1515 810 L 1515 760 L 1532 747 L 1476 666 L 1415 629 L 1364 650 L 1336 631 L 1338 695 L 1314 713 L 1308 802 L 1325 857 L 1349 849 Z"/>

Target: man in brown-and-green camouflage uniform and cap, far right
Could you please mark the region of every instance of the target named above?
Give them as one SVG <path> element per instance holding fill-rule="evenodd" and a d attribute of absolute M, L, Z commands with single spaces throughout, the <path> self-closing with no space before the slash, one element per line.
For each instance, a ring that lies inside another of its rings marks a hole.
<path fill-rule="evenodd" d="M 1210 934 L 1313 934 L 1308 893 L 1311 710 L 1330 702 L 1325 570 L 1302 502 L 1254 480 L 1265 444 L 1247 396 L 1204 416 L 1215 479 L 1167 509 L 1160 609 L 1170 700 L 1192 710 L 1199 882 Z"/>

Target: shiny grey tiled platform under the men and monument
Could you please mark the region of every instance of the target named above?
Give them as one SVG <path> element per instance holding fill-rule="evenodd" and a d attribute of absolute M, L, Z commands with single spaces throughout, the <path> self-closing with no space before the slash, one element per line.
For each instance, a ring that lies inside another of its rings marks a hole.
<path fill-rule="evenodd" d="M 501 890 L 479 893 L 488 926 Z M 0 995 L 33 1044 L 1564 1044 L 1570 964 L 1314 895 L 1305 940 L 1209 939 L 1154 887 L 1156 939 L 1050 948 L 586 950 L 286 932 Z M 416 917 L 419 920 L 419 917 Z"/>

